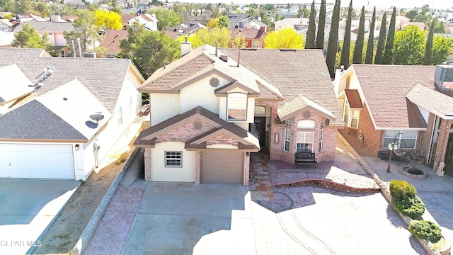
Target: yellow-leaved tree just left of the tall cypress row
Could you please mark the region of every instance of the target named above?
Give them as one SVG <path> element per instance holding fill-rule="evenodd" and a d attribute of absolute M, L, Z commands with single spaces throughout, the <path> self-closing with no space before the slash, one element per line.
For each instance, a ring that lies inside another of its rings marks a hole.
<path fill-rule="evenodd" d="M 264 47 L 268 49 L 302 49 L 303 46 L 304 36 L 294 28 L 270 31 L 264 38 Z"/>

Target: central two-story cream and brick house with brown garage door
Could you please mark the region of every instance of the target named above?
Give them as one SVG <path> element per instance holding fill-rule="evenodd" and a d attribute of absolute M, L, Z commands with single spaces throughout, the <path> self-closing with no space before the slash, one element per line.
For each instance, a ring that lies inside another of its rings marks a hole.
<path fill-rule="evenodd" d="M 151 102 L 151 127 L 134 143 L 147 181 L 246 186 L 259 150 L 291 164 L 306 149 L 333 160 L 343 121 L 321 50 L 188 45 L 139 88 Z"/>

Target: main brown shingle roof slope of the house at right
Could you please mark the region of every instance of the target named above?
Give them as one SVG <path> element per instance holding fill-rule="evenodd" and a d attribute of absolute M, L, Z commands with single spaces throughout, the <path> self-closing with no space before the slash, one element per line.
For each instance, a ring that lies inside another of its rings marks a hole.
<path fill-rule="evenodd" d="M 434 86 L 435 67 L 352 64 L 377 129 L 409 128 L 406 95 L 415 84 Z"/>

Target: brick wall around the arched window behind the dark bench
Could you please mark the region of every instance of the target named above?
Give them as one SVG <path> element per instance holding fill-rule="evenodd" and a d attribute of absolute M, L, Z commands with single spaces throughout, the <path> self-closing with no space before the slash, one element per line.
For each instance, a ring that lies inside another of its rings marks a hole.
<path fill-rule="evenodd" d="M 276 116 L 276 111 L 275 116 Z M 319 143 L 319 135 L 321 134 L 320 123 L 322 120 L 322 116 L 318 115 L 314 112 L 311 112 L 309 118 L 304 118 L 302 113 L 300 115 L 296 115 L 291 118 L 292 125 L 291 128 L 287 128 L 285 124 L 275 124 L 273 118 L 273 130 L 271 131 L 270 135 L 271 143 L 270 143 L 270 159 L 277 159 L 282 160 L 288 163 L 294 163 L 294 152 L 296 152 L 297 147 L 297 132 L 314 132 L 314 142 L 313 142 L 313 152 L 316 155 L 316 159 L 318 162 L 323 161 L 332 161 L 333 156 L 335 154 L 335 147 L 336 147 L 336 132 L 337 130 L 334 128 L 323 128 L 323 147 L 322 151 L 318 152 L 318 143 Z M 306 129 L 298 129 L 297 122 L 299 120 L 314 120 L 315 122 L 315 129 L 314 130 L 306 130 Z M 289 152 L 285 152 L 283 150 L 283 145 L 285 145 L 285 130 L 289 129 L 291 131 L 291 140 L 289 142 Z M 275 134 L 278 134 L 278 142 L 275 142 Z"/>

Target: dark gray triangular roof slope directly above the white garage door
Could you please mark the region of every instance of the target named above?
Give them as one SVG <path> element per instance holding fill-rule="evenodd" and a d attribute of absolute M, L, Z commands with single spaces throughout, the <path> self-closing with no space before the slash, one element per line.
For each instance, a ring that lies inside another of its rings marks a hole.
<path fill-rule="evenodd" d="M 87 140 L 36 100 L 1 115 L 0 127 L 0 140 Z"/>

